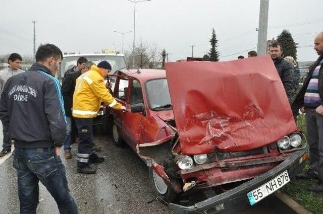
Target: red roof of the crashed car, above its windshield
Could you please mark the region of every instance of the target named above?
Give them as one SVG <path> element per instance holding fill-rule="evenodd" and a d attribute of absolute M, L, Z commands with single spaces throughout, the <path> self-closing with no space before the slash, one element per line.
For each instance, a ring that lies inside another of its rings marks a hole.
<path fill-rule="evenodd" d="M 121 72 L 138 79 L 142 83 L 147 80 L 166 78 L 166 71 L 162 69 L 122 69 Z"/>

